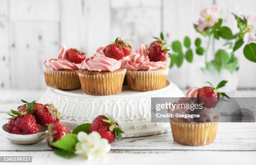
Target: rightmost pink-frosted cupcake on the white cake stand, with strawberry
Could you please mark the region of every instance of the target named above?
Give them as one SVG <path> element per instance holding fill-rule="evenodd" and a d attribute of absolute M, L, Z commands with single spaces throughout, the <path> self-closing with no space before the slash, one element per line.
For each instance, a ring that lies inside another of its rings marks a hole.
<path fill-rule="evenodd" d="M 127 69 L 126 77 L 131 90 L 151 91 L 165 86 L 169 71 L 165 66 L 166 51 L 163 51 L 163 56 L 159 55 L 161 52 L 152 51 L 148 52 L 147 46 L 141 44 L 131 59 L 123 64 L 123 68 Z"/>

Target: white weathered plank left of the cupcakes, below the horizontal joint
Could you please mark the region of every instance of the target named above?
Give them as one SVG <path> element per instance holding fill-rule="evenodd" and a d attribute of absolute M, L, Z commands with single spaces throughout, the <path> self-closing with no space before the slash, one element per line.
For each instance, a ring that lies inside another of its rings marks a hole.
<path fill-rule="evenodd" d="M 46 87 L 43 62 L 56 58 L 58 22 L 10 22 L 10 74 L 12 88 Z"/>

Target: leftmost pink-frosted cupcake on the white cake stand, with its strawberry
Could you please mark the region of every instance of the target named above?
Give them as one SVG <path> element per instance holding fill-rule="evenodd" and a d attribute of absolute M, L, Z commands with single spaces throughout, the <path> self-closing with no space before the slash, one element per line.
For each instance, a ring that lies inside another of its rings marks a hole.
<path fill-rule="evenodd" d="M 84 53 L 67 48 L 61 43 L 58 58 L 44 61 L 44 77 L 47 86 L 62 90 L 73 90 L 81 87 L 77 71 L 85 59 Z"/>

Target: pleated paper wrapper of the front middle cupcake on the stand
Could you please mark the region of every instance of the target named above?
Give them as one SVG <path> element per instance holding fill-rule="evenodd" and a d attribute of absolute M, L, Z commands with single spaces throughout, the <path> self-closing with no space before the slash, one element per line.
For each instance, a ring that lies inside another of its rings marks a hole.
<path fill-rule="evenodd" d="M 78 73 L 85 94 L 109 95 L 119 94 L 122 91 L 126 69 L 108 74 L 90 75 Z"/>

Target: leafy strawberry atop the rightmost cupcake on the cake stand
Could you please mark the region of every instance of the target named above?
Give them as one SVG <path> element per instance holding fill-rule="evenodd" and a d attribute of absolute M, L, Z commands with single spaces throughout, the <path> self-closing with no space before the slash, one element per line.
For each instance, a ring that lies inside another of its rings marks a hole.
<path fill-rule="evenodd" d="M 167 48 L 166 43 L 164 42 L 164 35 L 161 32 L 160 38 L 153 37 L 156 41 L 153 41 L 148 50 L 148 58 L 150 61 L 166 61 L 166 54 L 169 49 Z"/>

